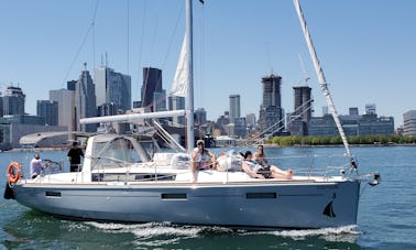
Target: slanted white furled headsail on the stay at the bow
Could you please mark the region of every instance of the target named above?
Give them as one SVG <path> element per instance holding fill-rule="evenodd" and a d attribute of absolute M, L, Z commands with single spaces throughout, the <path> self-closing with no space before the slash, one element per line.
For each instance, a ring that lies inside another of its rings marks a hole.
<path fill-rule="evenodd" d="M 352 157 L 352 154 L 351 154 L 350 145 L 349 145 L 349 143 L 347 141 L 346 133 L 343 132 L 343 128 L 341 126 L 341 121 L 339 120 L 336 107 L 335 107 L 333 101 L 332 101 L 332 97 L 329 94 L 327 80 L 325 79 L 322 67 L 319 64 L 319 59 L 318 59 L 318 56 L 316 54 L 316 51 L 315 51 L 315 47 L 314 47 L 314 44 L 313 44 L 313 41 L 311 41 L 310 34 L 309 34 L 309 30 L 306 26 L 306 21 L 305 21 L 304 14 L 302 12 L 302 9 L 300 9 L 300 6 L 299 6 L 299 1 L 298 0 L 293 0 L 293 3 L 295 6 L 297 15 L 299 18 L 302 30 L 304 31 L 306 44 L 308 45 L 309 54 L 310 54 L 310 57 L 311 57 L 311 59 L 314 62 L 314 67 L 315 67 L 315 72 L 316 72 L 316 74 L 318 76 L 318 81 L 319 81 L 320 88 L 322 90 L 324 96 L 327 99 L 327 104 L 328 104 L 329 110 L 330 110 L 330 112 L 332 115 L 333 121 L 337 124 L 338 132 L 341 135 L 342 142 L 343 142 L 343 146 L 346 148 L 346 151 L 347 151 L 347 156 L 350 159 L 351 165 L 355 166 L 355 162 L 354 162 L 354 160 Z"/>

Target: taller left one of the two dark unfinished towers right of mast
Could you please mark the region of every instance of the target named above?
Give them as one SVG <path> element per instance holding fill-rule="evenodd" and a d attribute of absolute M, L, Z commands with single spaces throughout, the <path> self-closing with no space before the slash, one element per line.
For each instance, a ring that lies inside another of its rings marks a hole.
<path fill-rule="evenodd" d="M 271 74 L 262 78 L 262 84 L 263 102 L 260 106 L 259 128 L 262 132 L 270 129 L 271 133 L 276 134 L 284 129 L 281 105 L 282 77 Z"/>

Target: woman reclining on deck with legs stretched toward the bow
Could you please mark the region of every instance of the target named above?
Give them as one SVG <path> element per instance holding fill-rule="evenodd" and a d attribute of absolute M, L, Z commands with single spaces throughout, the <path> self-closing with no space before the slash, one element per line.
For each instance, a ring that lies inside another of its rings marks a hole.
<path fill-rule="evenodd" d="M 242 163 L 243 171 L 253 178 L 285 178 L 291 180 L 293 171 L 283 171 L 275 165 L 262 166 L 253 160 L 251 151 L 247 151 Z"/>

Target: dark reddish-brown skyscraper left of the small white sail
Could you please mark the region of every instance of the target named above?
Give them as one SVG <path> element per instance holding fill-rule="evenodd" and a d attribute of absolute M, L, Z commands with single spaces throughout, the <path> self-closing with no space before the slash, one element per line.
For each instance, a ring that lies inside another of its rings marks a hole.
<path fill-rule="evenodd" d="M 155 110 L 154 93 L 162 93 L 162 70 L 153 67 L 144 67 L 142 86 L 142 108 L 147 108 L 150 111 Z"/>

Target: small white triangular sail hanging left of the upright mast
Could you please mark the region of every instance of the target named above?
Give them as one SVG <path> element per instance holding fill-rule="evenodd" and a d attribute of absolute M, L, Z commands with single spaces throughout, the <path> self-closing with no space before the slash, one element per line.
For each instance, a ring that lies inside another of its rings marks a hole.
<path fill-rule="evenodd" d="M 188 94 L 188 74 L 189 64 L 187 63 L 187 34 L 185 33 L 184 41 L 182 43 L 182 50 L 179 59 L 176 66 L 175 77 L 172 83 L 172 95 L 186 97 Z"/>

